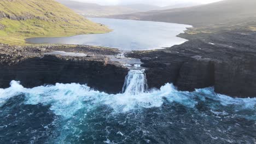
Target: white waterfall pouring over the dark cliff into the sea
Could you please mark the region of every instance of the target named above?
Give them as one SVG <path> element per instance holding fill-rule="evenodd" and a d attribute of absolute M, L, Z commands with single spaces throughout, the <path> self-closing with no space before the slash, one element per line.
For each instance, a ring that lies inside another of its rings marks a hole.
<path fill-rule="evenodd" d="M 130 70 L 125 77 L 123 86 L 123 93 L 130 95 L 137 95 L 139 93 L 147 92 L 147 78 L 143 70 Z"/>

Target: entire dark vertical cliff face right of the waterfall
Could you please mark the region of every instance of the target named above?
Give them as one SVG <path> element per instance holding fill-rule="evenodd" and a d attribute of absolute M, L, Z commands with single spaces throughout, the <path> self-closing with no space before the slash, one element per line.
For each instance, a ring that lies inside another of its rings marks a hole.
<path fill-rule="evenodd" d="M 160 88 L 172 82 L 181 91 L 214 86 L 220 94 L 256 97 L 255 58 L 246 62 L 219 62 L 216 59 L 182 58 L 166 53 L 164 60 L 155 58 L 143 62 L 142 66 L 148 68 L 146 74 L 150 88 Z"/>

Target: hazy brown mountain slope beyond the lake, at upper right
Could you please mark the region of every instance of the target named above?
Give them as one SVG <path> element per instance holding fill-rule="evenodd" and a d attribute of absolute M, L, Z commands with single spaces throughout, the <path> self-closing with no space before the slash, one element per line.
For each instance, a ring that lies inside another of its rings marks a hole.
<path fill-rule="evenodd" d="M 155 10 L 144 13 L 114 15 L 109 17 L 203 26 L 236 21 L 242 22 L 245 19 L 254 19 L 255 16 L 255 0 L 225 0 L 195 7 Z"/>

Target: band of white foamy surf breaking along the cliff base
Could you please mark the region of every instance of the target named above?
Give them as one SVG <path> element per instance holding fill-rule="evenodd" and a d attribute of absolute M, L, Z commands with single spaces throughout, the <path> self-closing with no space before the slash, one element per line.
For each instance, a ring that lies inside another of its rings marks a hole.
<path fill-rule="evenodd" d="M 9 88 L 0 89 L 0 104 L 3 105 L 9 98 L 20 94 L 25 95 L 25 104 L 50 105 L 50 110 L 64 118 L 72 117 L 75 112 L 85 107 L 90 110 L 107 105 L 115 113 L 125 113 L 136 109 L 161 107 L 165 101 L 191 109 L 195 109 L 199 103 L 205 103 L 211 106 L 212 111 L 218 110 L 219 105 L 234 108 L 234 111 L 256 109 L 255 98 L 231 98 L 215 93 L 212 87 L 181 92 L 171 83 L 148 92 L 107 94 L 77 83 L 24 88 L 19 81 L 11 81 Z"/>

